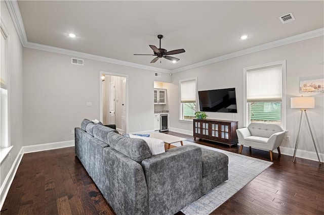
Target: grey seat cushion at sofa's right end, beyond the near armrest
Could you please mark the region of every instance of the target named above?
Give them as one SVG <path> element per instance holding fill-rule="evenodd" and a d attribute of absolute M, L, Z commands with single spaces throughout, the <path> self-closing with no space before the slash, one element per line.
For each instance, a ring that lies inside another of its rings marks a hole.
<path fill-rule="evenodd" d="M 203 159 L 203 177 L 228 165 L 228 156 L 224 153 L 201 148 Z"/>

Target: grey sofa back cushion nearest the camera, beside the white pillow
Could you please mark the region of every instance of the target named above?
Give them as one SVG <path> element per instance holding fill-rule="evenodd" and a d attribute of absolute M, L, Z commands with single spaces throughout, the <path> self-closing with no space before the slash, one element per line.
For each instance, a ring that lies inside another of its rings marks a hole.
<path fill-rule="evenodd" d="M 140 163 L 143 159 L 152 156 L 152 152 L 145 140 L 138 138 L 128 138 L 114 132 L 108 133 L 108 144 L 125 154 L 136 162 Z"/>

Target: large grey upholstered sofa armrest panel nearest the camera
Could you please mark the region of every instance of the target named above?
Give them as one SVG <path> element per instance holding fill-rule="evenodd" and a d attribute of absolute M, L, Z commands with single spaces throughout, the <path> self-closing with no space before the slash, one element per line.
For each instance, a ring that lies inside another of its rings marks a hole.
<path fill-rule="evenodd" d="M 174 214 L 200 197 L 200 147 L 176 147 L 146 158 L 141 164 L 148 190 L 148 214 Z"/>

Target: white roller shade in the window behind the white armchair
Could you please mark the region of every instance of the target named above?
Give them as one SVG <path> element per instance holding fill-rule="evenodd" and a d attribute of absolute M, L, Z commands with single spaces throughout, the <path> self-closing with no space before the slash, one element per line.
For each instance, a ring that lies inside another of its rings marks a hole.
<path fill-rule="evenodd" d="M 247 102 L 282 100 L 281 65 L 247 71 Z"/>

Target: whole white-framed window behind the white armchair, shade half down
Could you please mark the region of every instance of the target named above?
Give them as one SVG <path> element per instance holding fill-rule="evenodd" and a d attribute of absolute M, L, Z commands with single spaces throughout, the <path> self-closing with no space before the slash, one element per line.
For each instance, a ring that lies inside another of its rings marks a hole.
<path fill-rule="evenodd" d="M 286 127 L 286 61 L 244 69 L 245 126 L 267 122 Z"/>

